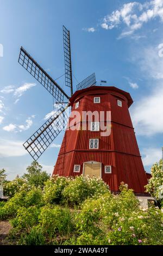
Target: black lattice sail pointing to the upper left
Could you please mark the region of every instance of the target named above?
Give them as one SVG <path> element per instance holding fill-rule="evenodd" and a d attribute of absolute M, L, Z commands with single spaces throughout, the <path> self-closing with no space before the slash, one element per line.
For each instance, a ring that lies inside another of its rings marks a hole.
<path fill-rule="evenodd" d="M 41 66 L 26 52 L 26 50 L 24 50 L 23 47 L 21 47 L 18 63 L 20 63 L 24 69 L 35 77 L 36 80 L 53 95 L 58 103 L 68 102 L 69 97 L 64 90 L 60 88 L 58 83 L 41 68 Z"/>

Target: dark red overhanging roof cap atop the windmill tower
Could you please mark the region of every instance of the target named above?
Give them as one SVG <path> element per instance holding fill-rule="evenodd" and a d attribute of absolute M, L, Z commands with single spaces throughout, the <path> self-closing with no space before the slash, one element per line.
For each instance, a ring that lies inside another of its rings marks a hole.
<path fill-rule="evenodd" d="M 133 99 L 131 98 L 130 94 L 125 92 L 124 90 L 118 89 L 114 86 L 91 86 L 82 90 L 77 90 L 72 97 L 69 99 L 71 105 L 73 105 L 74 101 L 78 99 L 78 97 L 82 97 L 88 94 L 114 94 L 117 97 L 125 97 L 128 102 L 128 107 L 133 104 Z"/>

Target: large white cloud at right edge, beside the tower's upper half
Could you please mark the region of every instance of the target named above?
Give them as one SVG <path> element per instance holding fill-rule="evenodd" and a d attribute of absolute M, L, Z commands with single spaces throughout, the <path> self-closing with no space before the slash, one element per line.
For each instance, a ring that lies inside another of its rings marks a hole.
<path fill-rule="evenodd" d="M 139 135 L 152 136 L 163 133 L 162 118 L 163 84 L 154 88 L 151 95 L 143 95 L 131 109 L 135 131 Z"/>

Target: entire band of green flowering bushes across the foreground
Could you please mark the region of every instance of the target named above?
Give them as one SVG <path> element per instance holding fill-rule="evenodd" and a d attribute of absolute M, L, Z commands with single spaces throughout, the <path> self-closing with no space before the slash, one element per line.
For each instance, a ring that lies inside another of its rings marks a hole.
<path fill-rule="evenodd" d="M 140 208 L 124 182 L 114 195 L 95 177 L 55 175 L 43 189 L 21 181 L 0 203 L 0 220 L 10 219 L 20 245 L 163 244 L 163 212 Z"/>

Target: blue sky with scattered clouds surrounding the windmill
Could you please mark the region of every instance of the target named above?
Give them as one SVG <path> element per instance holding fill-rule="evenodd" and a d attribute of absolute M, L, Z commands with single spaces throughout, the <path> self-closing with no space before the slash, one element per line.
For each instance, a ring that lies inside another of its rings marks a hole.
<path fill-rule="evenodd" d="M 0 169 L 9 179 L 32 162 L 22 144 L 53 110 L 51 95 L 17 63 L 20 47 L 54 79 L 63 75 L 62 25 L 71 32 L 77 81 L 96 72 L 98 83 L 133 97 L 131 118 L 149 171 L 163 146 L 163 0 L 0 0 L 0 11 Z M 64 77 L 57 81 L 70 94 Z M 49 173 L 63 135 L 39 159 Z"/>

